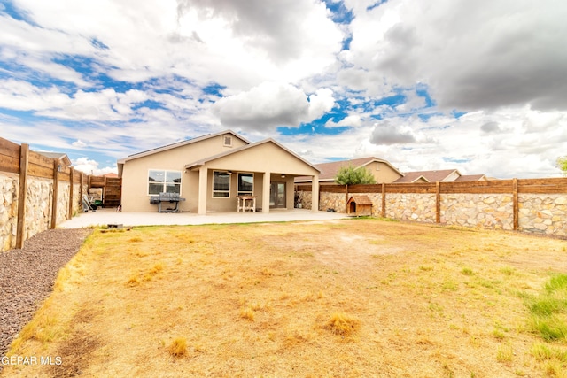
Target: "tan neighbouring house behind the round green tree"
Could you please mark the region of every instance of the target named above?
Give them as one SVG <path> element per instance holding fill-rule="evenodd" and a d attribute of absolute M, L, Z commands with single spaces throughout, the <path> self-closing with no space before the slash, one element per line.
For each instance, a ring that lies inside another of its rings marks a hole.
<path fill-rule="evenodd" d="M 403 177 L 403 174 L 392 164 L 383 158 L 354 158 L 351 160 L 333 161 L 330 163 L 316 164 L 315 167 L 321 171 L 319 175 L 320 185 L 336 184 L 335 176 L 342 167 L 353 166 L 354 168 L 366 168 L 374 175 L 377 183 L 390 183 Z M 310 184 L 311 177 L 296 177 L 296 184 Z"/>

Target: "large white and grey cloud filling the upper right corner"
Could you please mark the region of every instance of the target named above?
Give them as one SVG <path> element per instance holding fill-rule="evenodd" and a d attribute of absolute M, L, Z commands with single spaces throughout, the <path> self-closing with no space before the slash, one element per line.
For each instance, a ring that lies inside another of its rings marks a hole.
<path fill-rule="evenodd" d="M 351 5 L 354 66 L 339 78 L 353 89 L 424 82 L 449 110 L 567 109 L 562 0 L 390 0 L 369 12 Z"/>

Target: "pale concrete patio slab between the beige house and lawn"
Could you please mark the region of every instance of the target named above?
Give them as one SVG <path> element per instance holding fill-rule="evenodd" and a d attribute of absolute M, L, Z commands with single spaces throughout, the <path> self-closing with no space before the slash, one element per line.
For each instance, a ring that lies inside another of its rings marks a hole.
<path fill-rule="evenodd" d="M 265 223 L 294 220 L 339 220 L 346 218 L 338 212 L 312 212 L 311 210 L 272 210 L 263 212 L 210 212 L 198 215 L 194 212 L 116 212 L 114 209 L 98 209 L 84 212 L 66 220 L 58 228 L 88 228 L 121 224 L 128 226 L 206 225 L 222 223 Z"/>

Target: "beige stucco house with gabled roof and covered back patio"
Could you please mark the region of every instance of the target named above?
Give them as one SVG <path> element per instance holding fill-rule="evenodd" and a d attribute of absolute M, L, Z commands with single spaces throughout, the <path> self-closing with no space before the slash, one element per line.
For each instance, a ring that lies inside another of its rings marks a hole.
<path fill-rule="evenodd" d="M 136 153 L 118 161 L 123 212 L 155 212 L 160 192 L 185 198 L 184 212 L 237 212 L 237 196 L 256 209 L 292 209 L 297 176 L 318 182 L 321 171 L 273 139 L 257 143 L 226 130 Z M 314 190 L 313 211 L 317 211 Z"/>

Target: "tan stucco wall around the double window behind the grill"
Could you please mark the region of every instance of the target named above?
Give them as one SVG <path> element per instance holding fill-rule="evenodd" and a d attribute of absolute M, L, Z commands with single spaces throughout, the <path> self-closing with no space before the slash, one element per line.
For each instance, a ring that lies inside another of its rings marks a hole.
<path fill-rule="evenodd" d="M 185 165 L 202 158 L 219 154 L 245 145 L 240 139 L 232 138 L 232 147 L 223 146 L 223 135 L 171 150 L 157 152 L 124 163 L 122 170 L 122 211 L 157 212 L 158 206 L 150 204 L 148 194 L 148 173 L 151 169 L 164 169 L 182 173 L 181 197 L 184 211 L 194 212 L 198 206 L 198 172 L 185 169 Z"/>

